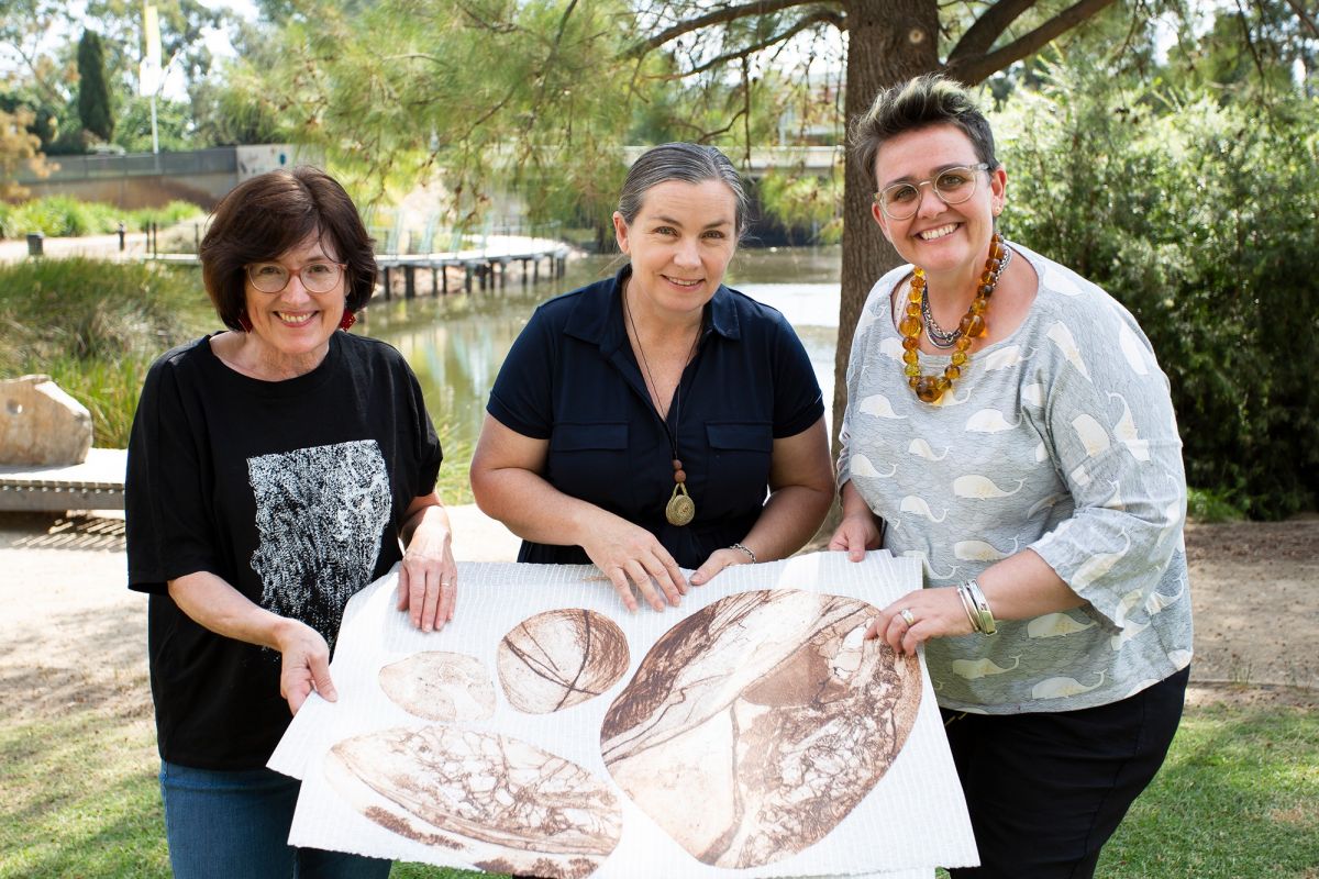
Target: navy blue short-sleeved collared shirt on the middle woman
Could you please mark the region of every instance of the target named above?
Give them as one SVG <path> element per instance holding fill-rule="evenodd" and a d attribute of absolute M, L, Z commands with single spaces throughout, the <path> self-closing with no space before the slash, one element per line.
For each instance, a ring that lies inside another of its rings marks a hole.
<path fill-rule="evenodd" d="M 543 303 L 500 368 L 487 411 L 549 440 L 550 485 L 658 538 L 685 568 L 741 540 L 769 490 L 776 439 L 824 414 L 819 382 L 791 326 L 774 308 L 720 286 L 706 306 L 695 358 L 682 374 L 669 428 L 696 505 L 669 525 L 673 455 L 623 324 L 624 266 Z M 590 563 L 580 547 L 524 542 L 518 561 Z"/>

